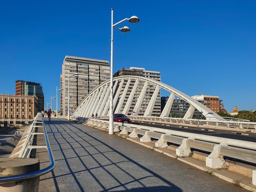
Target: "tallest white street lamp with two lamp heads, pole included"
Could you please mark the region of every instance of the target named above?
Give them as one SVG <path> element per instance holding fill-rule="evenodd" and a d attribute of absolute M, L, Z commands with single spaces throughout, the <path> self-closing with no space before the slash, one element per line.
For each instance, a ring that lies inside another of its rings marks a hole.
<path fill-rule="evenodd" d="M 139 22 L 139 18 L 132 16 L 131 18 L 125 18 L 116 24 L 113 24 L 113 8 L 111 9 L 111 56 L 110 56 L 110 113 L 109 113 L 109 129 L 108 134 L 114 133 L 114 117 L 113 117 L 113 28 L 119 29 L 121 32 L 127 33 L 130 31 L 129 27 L 124 26 L 122 28 L 115 27 L 119 23 L 128 20 L 131 23 Z"/>

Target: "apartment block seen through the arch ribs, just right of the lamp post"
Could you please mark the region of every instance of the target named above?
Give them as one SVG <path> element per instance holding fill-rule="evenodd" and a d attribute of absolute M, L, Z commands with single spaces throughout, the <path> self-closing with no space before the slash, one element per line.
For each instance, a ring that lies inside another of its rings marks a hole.
<path fill-rule="evenodd" d="M 161 73 L 159 71 L 149 71 L 149 70 L 146 70 L 145 68 L 139 68 L 139 67 L 130 67 L 130 69 L 122 68 L 119 71 L 117 71 L 113 76 L 117 77 L 117 76 L 127 76 L 127 75 L 141 76 L 141 77 L 146 77 L 146 78 L 151 78 L 151 79 L 154 79 L 154 80 L 157 80 L 157 81 L 161 81 Z M 134 86 L 134 84 L 135 84 L 135 81 L 130 82 L 130 85 L 129 85 L 129 88 L 128 88 L 128 91 L 127 91 L 127 95 L 129 95 L 130 92 L 132 91 L 132 87 Z M 124 85 L 121 89 L 119 99 L 121 98 L 121 95 L 124 92 L 125 86 L 126 86 L 126 83 L 124 83 Z M 141 93 L 141 89 L 143 88 L 143 86 L 144 86 L 144 83 L 139 82 L 139 84 L 137 86 L 137 89 L 136 89 L 136 92 L 135 92 L 135 95 L 134 95 L 134 98 L 132 100 L 132 104 L 131 104 L 131 107 L 129 109 L 128 115 L 134 115 L 134 114 L 132 114 L 132 111 L 133 111 L 133 108 L 135 107 L 135 105 L 137 103 L 137 100 L 139 98 L 139 94 Z M 144 115 L 144 113 L 146 111 L 146 108 L 148 107 L 148 103 L 150 101 L 150 98 L 153 96 L 155 88 L 156 88 L 155 85 L 148 84 L 148 88 L 147 88 L 146 94 L 143 98 L 143 102 L 141 104 L 141 108 L 139 110 L 138 115 Z M 124 107 L 127 103 L 127 100 L 128 100 L 128 96 L 124 99 L 124 103 L 122 104 L 122 107 L 121 107 L 121 112 L 123 111 L 123 109 L 124 109 Z M 114 109 L 114 111 L 115 111 L 115 109 Z M 157 95 L 157 99 L 156 99 L 156 102 L 155 102 L 155 105 L 154 105 L 153 112 L 152 112 L 151 116 L 159 116 L 160 114 L 161 114 L 161 99 L 160 99 L 160 90 L 159 90 L 159 93 Z"/>

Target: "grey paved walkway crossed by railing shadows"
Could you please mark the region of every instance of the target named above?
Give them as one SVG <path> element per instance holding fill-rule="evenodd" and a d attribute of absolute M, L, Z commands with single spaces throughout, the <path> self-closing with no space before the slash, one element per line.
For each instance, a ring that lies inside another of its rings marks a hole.
<path fill-rule="evenodd" d="M 56 118 L 45 118 L 45 126 L 56 167 L 40 177 L 39 192 L 245 191 L 100 129 Z M 45 154 L 36 156 L 42 166 L 47 165 Z"/>

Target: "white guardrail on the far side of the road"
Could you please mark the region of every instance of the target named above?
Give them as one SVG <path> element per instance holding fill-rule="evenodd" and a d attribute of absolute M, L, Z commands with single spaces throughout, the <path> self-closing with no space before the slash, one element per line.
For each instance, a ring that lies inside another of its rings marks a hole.
<path fill-rule="evenodd" d="M 202 125 L 202 126 L 213 126 L 213 127 L 228 127 L 228 128 L 242 128 L 242 129 L 256 129 L 256 122 L 249 122 L 243 119 L 231 119 L 227 121 L 221 121 L 216 119 L 184 119 L 184 118 L 171 118 L 171 117 L 144 117 L 144 116 L 127 116 L 131 120 L 149 120 L 159 122 L 170 122 L 170 123 L 184 123 L 190 125 Z M 109 116 L 99 116 L 100 119 L 109 119 Z M 236 121 L 235 121 L 236 120 Z"/>

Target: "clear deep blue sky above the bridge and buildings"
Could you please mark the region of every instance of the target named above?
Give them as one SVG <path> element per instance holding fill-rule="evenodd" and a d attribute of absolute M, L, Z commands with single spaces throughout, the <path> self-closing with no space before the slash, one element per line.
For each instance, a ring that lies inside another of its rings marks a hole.
<path fill-rule="evenodd" d="M 119 25 L 129 33 L 114 31 L 114 72 L 160 71 L 163 83 L 189 96 L 220 96 L 228 112 L 256 110 L 254 0 L 2 1 L 0 92 L 34 81 L 49 103 L 65 55 L 110 60 L 111 7 L 114 22 L 140 19 Z"/>

